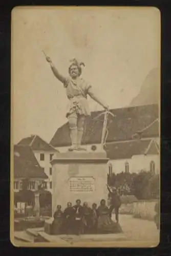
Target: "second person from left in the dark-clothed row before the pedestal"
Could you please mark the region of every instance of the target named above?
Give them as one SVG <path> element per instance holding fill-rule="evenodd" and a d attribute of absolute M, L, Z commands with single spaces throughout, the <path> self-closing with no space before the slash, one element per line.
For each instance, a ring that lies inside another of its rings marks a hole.
<path fill-rule="evenodd" d="M 74 208 L 72 207 L 72 203 L 67 203 L 67 208 L 63 211 L 63 231 L 66 234 L 73 234 L 74 228 Z"/>

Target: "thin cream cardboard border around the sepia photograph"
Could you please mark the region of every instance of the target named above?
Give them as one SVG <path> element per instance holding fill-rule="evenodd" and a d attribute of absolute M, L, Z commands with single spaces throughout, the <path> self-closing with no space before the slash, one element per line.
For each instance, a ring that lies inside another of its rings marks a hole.
<path fill-rule="evenodd" d="M 15 9 L 51 9 L 51 8 L 58 8 L 58 9 L 75 9 L 75 8 L 79 8 L 79 9 L 92 9 L 92 8 L 96 8 L 96 9 L 101 9 L 101 8 L 105 8 L 105 9 L 139 9 L 139 8 L 143 8 L 143 9 L 149 9 L 149 8 L 153 8 L 154 10 L 156 10 L 156 15 L 159 15 L 159 22 L 160 22 L 160 10 L 156 7 L 89 7 L 89 6 L 82 6 L 82 7 L 65 7 L 65 6 L 27 6 L 27 7 L 23 7 L 23 6 L 18 6 L 13 8 L 12 13 L 11 13 L 11 148 L 10 148 L 10 241 L 11 243 L 16 246 L 16 247 L 63 247 L 63 245 L 61 244 L 56 244 L 56 243 L 51 243 L 51 242 L 42 242 L 42 243 L 25 243 L 25 242 L 14 242 L 14 207 L 13 207 L 13 200 L 14 200 L 14 191 L 13 191 L 13 180 L 14 180 L 14 174 L 13 174 L 13 165 L 14 165 L 14 161 L 13 161 L 13 86 L 12 86 L 12 78 L 13 78 L 13 71 L 12 71 L 12 65 L 13 65 L 13 51 L 12 51 L 12 38 L 13 38 L 13 23 L 12 23 L 12 19 L 13 19 L 13 12 L 15 12 Z M 160 22 L 161 24 L 161 22 Z M 159 40 L 158 40 L 158 62 L 161 62 L 161 25 L 159 25 Z M 161 77 L 161 72 L 160 72 L 160 77 Z M 161 88 L 160 88 L 160 95 L 161 95 Z M 159 106 L 161 105 L 161 99 L 159 99 Z M 160 120 L 161 120 L 161 111 L 159 111 L 159 116 L 160 116 Z M 160 127 L 161 130 L 161 127 Z M 159 132 L 160 134 L 160 132 Z M 160 137 L 160 136 L 159 136 Z M 161 165 L 161 164 L 160 164 Z M 161 172 L 161 171 L 160 171 Z M 160 178 L 161 179 L 161 178 Z M 105 247 L 122 247 L 122 248 L 142 248 L 142 247 L 156 247 L 158 246 L 160 243 L 160 241 L 117 241 L 117 242 L 79 242 L 77 243 L 77 246 L 73 246 L 73 245 L 68 245 L 65 246 L 66 248 L 78 248 L 78 247 L 83 247 L 83 248 L 97 248 L 97 247 L 101 247 L 101 248 L 105 248 Z"/>

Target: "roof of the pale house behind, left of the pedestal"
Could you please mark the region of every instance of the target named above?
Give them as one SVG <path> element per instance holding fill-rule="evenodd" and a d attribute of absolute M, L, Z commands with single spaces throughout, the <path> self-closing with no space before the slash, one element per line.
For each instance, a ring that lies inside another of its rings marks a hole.
<path fill-rule="evenodd" d="M 42 151 L 55 151 L 55 148 L 45 140 L 41 139 L 38 135 L 31 135 L 30 137 L 24 138 L 18 142 L 18 145 L 31 146 L 32 150 L 42 150 Z"/>

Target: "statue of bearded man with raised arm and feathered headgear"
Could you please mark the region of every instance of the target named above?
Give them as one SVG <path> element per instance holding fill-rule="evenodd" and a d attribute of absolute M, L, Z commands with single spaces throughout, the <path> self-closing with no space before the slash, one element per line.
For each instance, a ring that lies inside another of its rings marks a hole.
<path fill-rule="evenodd" d="M 74 58 L 69 67 L 70 76 L 64 77 L 55 68 L 50 57 L 46 57 L 46 60 L 50 63 L 51 69 L 55 77 L 59 81 L 61 81 L 64 88 L 66 88 L 67 97 L 70 101 L 66 114 L 66 117 L 69 120 L 70 137 L 72 142 L 69 150 L 85 150 L 81 147 L 81 139 L 83 135 L 86 116 L 90 115 L 87 96 L 89 95 L 97 103 L 102 105 L 105 110 L 109 110 L 109 107 L 95 95 L 92 86 L 80 77 L 82 73 L 81 66 L 85 66 L 83 62 L 79 63 Z"/>

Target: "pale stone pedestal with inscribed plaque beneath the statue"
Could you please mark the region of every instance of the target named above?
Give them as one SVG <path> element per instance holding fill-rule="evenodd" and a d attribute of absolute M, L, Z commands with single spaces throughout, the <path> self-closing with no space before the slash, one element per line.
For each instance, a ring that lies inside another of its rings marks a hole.
<path fill-rule="evenodd" d="M 105 151 L 59 153 L 52 164 L 52 216 L 56 206 L 62 210 L 67 202 L 73 205 L 77 199 L 99 205 L 101 199 L 107 203 L 106 187 L 108 163 Z"/>

